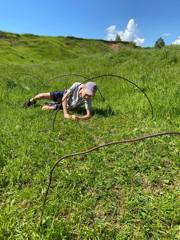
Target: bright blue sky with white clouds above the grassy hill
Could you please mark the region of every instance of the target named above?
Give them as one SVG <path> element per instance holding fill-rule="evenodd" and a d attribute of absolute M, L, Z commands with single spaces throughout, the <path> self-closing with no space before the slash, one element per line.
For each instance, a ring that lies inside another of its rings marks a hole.
<path fill-rule="evenodd" d="M 180 44 L 180 0 L 2 0 L 0 30 Z"/>

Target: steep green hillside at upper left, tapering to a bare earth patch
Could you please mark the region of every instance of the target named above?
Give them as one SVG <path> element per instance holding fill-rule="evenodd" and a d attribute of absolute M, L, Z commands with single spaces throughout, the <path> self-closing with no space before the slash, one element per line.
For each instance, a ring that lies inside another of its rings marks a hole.
<path fill-rule="evenodd" d="M 0 32 L 0 63 L 62 61 L 88 54 L 111 53 L 128 45 L 132 46 L 126 42 Z"/>

